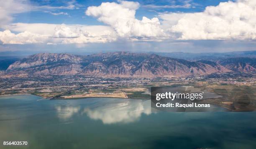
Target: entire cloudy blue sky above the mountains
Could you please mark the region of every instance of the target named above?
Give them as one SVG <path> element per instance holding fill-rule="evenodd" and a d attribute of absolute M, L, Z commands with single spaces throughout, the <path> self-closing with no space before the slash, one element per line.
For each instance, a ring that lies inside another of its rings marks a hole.
<path fill-rule="evenodd" d="M 0 52 L 256 50 L 255 0 L 0 3 Z"/>

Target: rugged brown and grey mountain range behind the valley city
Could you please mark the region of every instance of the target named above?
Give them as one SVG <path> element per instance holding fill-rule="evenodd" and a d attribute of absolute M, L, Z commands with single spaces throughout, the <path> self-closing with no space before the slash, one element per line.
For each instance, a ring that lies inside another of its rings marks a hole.
<path fill-rule="evenodd" d="M 256 71 L 256 59 L 188 61 L 148 53 L 107 52 L 93 55 L 39 53 L 11 64 L 7 74 L 94 75 L 101 77 L 180 77 L 230 71 Z"/>

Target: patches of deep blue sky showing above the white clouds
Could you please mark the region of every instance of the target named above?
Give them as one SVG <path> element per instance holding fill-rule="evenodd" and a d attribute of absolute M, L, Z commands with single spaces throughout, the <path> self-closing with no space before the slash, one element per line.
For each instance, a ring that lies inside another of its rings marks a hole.
<path fill-rule="evenodd" d="M 228 0 L 193 0 L 191 7 L 182 8 L 150 8 L 147 5 L 184 5 L 186 0 L 138 0 L 136 2 L 140 3 L 139 9 L 136 11 L 136 18 L 140 19 L 143 16 L 155 17 L 159 12 L 201 12 L 205 7 L 209 5 L 216 6 L 220 2 L 226 2 Z M 52 6 L 61 7 L 68 6 L 68 1 L 62 0 L 31 0 L 31 4 L 38 6 Z M 108 2 L 116 2 L 116 0 L 108 0 Z M 55 9 L 49 10 L 50 12 L 66 12 L 69 15 L 52 15 L 48 12 L 38 10 L 38 11 L 28 11 L 24 13 L 19 13 L 15 15 L 15 20 L 13 22 L 26 22 L 26 23 L 54 23 L 54 24 L 85 24 L 85 25 L 104 25 L 104 23 L 97 21 L 94 17 L 89 17 L 84 14 L 84 11 L 89 6 L 98 6 L 102 3 L 102 0 L 77 0 L 75 2 L 79 9 L 67 10 L 67 9 Z"/>

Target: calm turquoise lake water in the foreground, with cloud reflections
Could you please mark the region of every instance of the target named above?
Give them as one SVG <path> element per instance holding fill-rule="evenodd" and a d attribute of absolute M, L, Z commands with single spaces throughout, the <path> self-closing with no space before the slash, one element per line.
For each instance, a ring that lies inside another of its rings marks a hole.
<path fill-rule="evenodd" d="M 0 149 L 256 148 L 255 112 L 152 113 L 138 99 L 38 99 L 0 97 Z"/>

